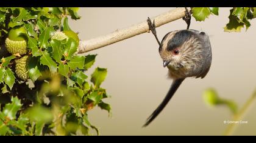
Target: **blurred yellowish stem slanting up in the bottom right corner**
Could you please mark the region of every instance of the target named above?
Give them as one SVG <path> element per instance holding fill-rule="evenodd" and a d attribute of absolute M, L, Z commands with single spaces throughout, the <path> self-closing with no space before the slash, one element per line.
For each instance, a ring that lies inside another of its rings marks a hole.
<path fill-rule="evenodd" d="M 233 121 L 240 121 L 243 118 L 243 116 L 245 115 L 245 113 L 249 110 L 249 107 L 252 105 L 252 103 L 254 102 L 255 99 L 256 99 L 256 90 L 252 94 L 251 98 L 249 98 L 247 100 L 247 102 L 244 104 L 244 106 L 241 108 L 241 110 L 238 111 L 238 113 L 236 113 L 233 116 Z M 225 136 L 232 135 L 232 133 L 235 130 L 236 126 L 237 126 L 237 124 L 229 124 L 227 126 L 226 131 L 224 131 L 224 135 Z"/>

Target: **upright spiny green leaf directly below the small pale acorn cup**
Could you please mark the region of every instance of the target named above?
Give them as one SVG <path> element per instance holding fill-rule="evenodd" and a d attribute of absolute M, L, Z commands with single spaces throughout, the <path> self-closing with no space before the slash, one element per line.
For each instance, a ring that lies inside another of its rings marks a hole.
<path fill-rule="evenodd" d="M 55 61 L 60 63 L 62 59 L 62 53 L 63 53 L 60 41 L 52 39 L 50 44 L 52 46 L 52 58 L 54 58 Z"/>

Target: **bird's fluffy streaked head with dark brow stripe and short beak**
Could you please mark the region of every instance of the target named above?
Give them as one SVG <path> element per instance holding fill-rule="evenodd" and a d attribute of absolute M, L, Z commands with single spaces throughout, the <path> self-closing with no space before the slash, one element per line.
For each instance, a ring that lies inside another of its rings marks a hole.
<path fill-rule="evenodd" d="M 163 67 L 171 70 L 191 68 L 200 61 L 205 33 L 197 30 L 176 30 L 167 33 L 160 44 Z"/>

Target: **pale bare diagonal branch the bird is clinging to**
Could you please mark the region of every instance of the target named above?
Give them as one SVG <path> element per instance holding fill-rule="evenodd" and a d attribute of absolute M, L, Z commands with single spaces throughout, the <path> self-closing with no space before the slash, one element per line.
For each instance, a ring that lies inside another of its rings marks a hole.
<path fill-rule="evenodd" d="M 176 8 L 174 10 L 170 10 L 169 12 L 163 13 L 162 15 L 155 16 L 151 19 L 155 20 L 155 27 L 159 27 L 168 22 L 183 18 L 185 16 L 185 11 L 186 10 L 183 7 Z M 115 42 L 119 42 L 124 39 L 149 32 L 149 26 L 146 19 L 147 17 L 145 18 L 145 21 L 141 22 L 140 24 L 131 25 L 130 27 L 124 28 L 122 30 L 116 30 L 115 32 L 109 33 L 108 35 L 80 41 L 78 53 L 85 53 L 91 50 L 96 50 L 106 45 L 110 45 Z"/>

